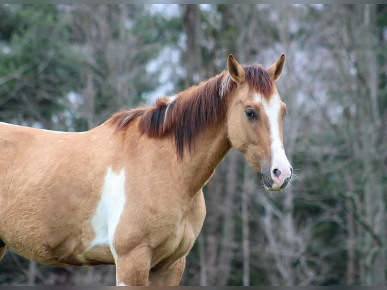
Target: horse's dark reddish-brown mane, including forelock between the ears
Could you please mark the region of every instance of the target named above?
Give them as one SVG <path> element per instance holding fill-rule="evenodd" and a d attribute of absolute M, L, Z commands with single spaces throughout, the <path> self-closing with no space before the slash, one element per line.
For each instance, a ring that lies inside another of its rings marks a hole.
<path fill-rule="evenodd" d="M 271 74 L 259 65 L 244 67 L 249 87 L 269 99 L 274 87 Z M 226 115 L 228 96 L 236 83 L 228 72 L 201 82 L 178 93 L 174 99 L 160 98 L 152 107 L 140 107 L 114 114 L 109 122 L 120 130 L 133 119 L 140 117 L 139 130 L 150 137 L 173 134 L 176 153 L 183 157 L 184 146 L 191 151 L 195 139 L 207 126 L 221 122 Z"/>

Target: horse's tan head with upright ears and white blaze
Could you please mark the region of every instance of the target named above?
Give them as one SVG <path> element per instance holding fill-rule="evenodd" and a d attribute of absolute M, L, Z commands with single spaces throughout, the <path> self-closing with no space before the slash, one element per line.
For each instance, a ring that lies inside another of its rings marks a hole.
<path fill-rule="evenodd" d="M 267 70 L 241 67 L 232 55 L 227 67 L 236 89 L 229 101 L 227 132 L 232 146 L 262 173 L 268 190 L 284 189 L 292 178 L 292 166 L 282 141 L 286 105 L 274 85 L 285 64 L 282 55 Z"/>

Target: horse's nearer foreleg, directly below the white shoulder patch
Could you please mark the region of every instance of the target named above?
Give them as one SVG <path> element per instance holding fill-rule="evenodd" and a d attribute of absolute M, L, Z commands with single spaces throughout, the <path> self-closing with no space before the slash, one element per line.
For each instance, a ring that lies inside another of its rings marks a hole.
<path fill-rule="evenodd" d="M 116 261 L 116 283 L 118 286 L 147 286 L 151 267 L 150 251 L 146 247 L 119 254 Z"/>

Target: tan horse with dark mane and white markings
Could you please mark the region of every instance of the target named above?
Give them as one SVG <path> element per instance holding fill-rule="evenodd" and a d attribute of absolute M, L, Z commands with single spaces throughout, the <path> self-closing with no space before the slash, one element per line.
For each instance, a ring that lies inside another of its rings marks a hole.
<path fill-rule="evenodd" d="M 234 147 L 267 190 L 292 179 L 268 69 L 227 69 L 85 132 L 0 124 L 0 259 L 115 264 L 117 285 L 178 285 L 206 215 L 203 186 Z"/>

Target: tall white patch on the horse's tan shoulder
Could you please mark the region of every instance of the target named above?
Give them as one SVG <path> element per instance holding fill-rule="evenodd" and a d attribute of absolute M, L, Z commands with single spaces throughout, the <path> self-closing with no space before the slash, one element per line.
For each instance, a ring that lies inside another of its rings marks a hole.
<path fill-rule="evenodd" d="M 113 247 L 114 233 L 125 205 L 125 170 L 116 174 L 109 167 L 101 200 L 92 218 L 91 225 L 95 232 L 88 250 L 95 246 L 110 246 L 114 260 L 117 261 L 117 252 Z"/>

